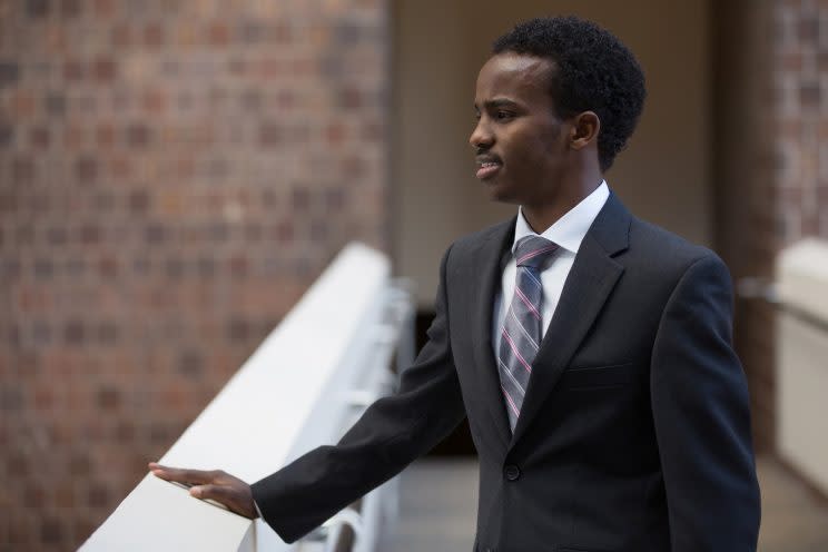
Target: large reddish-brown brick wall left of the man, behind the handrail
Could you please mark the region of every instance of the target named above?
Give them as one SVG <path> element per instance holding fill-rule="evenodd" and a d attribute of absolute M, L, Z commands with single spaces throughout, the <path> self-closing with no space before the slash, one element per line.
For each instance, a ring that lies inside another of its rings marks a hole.
<path fill-rule="evenodd" d="M 0 1 L 0 550 L 108 515 L 348 240 L 382 0 Z"/>

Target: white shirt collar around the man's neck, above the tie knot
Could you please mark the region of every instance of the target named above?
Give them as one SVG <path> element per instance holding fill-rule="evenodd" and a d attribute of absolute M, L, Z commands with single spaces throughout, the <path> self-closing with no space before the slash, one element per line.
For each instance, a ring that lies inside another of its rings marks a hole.
<path fill-rule="evenodd" d="M 607 186 L 607 180 L 601 181 L 601 185 L 595 188 L 592 194 L 586 196 L 572 207 L 566 214 L 559 218 L 555 224 L 546 228 L 546 230 L 540 236 L 554 241 L 559 247 L 562 247 L 569 252 L 578 253 L 581 247 L 586 231 L 592 226 L 595 217 L 601 211 L 601 208 L 607 203 L 607 198 L 610 197 L 610 188 Z M 538 236 L 538 233 L 532 230 L 523 218 L 523 209 L 518 209 L 518 223 L 514 227 L 514 243 L 512 244 L 512 253 L 518 245 L 518 240 L 526 236 Z"/>

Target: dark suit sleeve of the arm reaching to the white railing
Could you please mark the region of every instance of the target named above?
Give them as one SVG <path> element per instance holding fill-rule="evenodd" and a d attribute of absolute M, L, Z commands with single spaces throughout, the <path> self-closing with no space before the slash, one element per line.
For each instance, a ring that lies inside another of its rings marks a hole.
<path fill-rule="evenodd" d="M 321 446 L 252 485 L 264 520 L 294 542 L 430 451 L 465 417 L 448 337 L 446 252 L 428 341 L 400 391 L 369 406 L 335 446 Z"/>

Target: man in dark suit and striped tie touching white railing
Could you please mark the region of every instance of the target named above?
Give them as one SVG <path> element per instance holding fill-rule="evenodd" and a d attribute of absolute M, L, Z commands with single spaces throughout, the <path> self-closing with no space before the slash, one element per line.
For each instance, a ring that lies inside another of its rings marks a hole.
<path fill-rule="evenodd" d="M 519 213 L 445 253 L 428 342 L 398 393 L 252 486 L 152 471 L 294 541 L 467 417 L 475 550 L 755 550 L 727 268 L 632 216 L 603 179 L 643 100 L 632 53 L 591 22 L 536 19 L 501 37 L 470 142 L 489 194 Z"/>

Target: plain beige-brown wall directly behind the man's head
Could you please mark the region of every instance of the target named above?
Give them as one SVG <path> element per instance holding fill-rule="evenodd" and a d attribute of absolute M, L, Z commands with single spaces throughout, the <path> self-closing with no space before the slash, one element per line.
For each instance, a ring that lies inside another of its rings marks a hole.
<path fill-rule="evenodd" d="M 644 67 L 644 115 L 610 185 L 637 215 L 711 243 L 708 2 L 397 0 L 393 10 L 392 253 L 421 306 L 433 302 L 445 247 L 514 213 L 474 178 L 474 82 L 494 38 L 551 11 L 608 27 Z"/>

